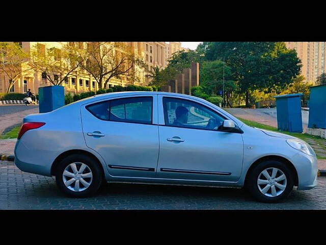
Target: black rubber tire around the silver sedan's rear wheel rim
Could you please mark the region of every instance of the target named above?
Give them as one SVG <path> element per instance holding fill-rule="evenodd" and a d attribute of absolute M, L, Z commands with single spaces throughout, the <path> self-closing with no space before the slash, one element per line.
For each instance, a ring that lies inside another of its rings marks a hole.
<path fill-rule="evenodd" d="M 64 184 L 63 172 L 64 172 L 65 168 L 73 162 L 84 163 L 92 171 L 92 176 L 93 176 L 92 182 L 91 182 L 90 186 L 83 191 L 76 192 L 76 191 L 70 190 Z M 78 154 L 70 155 L 70 156 L 64 158 L 57 165 L 57 168 L 56 168 L 56 182 L 57 182 L 59 189 L 63 193 L 65 193 L 66 195 L 68 195 L 69 197 L 72 197 L 72 198 L 86 198 L 86 197 L 90 197 L 91 195 L 94 195 L 98 191 L 100 186 L 102 185 L 102 182 L 104 182 L 104 181 L 103 181 L 103 174 L 102 174 L 101 167 L 98 165 L 98 163 L 92 157 L 89 157 L 87 155 L 78 155 Z"/>

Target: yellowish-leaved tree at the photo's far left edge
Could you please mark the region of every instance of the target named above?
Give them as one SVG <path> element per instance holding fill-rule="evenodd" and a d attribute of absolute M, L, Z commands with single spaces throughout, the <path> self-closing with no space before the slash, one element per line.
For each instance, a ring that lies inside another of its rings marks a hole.
<path fill-rule="evenodd" d="M 0 42 L 0 70 L 9 78 L 7 93 L 27 72 L 32 71 L 29 54 L 17 42 Z"/>

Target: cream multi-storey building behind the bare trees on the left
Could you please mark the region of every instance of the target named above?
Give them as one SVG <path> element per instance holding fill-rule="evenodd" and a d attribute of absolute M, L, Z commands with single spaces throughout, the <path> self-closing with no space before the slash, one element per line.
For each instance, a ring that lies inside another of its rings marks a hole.
<path fill-rule="evenodd" d="M 60 50 L 62 45 L 66 44 L 67 42 L 20 42 L 21 47 L 25 52 L 30 52 L 31 48 L 34 47 L 34 45 L 37 45 L 38 49 L 41 52 L 45 53 L 46 48 L 57 48 Z M 69 42 L 69 45 L 74 45 L 76 47 L 86 47 L 86 45 L 90 44 L 89 42 Z M 124 42 L 131 51 L 139 56 L 144 57 L 144 43 L 143 42 Z M 160 45 L 162 49 L 160 50 L 162 53 L 164 51 L 164 45 Z M 157 48 L 156 46 L 153 46 L 153 48 Z M 159 50 L 159 48 L 158 48 Z M 156 51 L 156 50 L 155 50 Z M 117 52 L 118 53 L 118 52 Z M 154 53 L 156 54 L 156 53 Z M 162 59 L 161 61 L 155 62 L 153 64 L 164 64 L 165 60 Z M 138 77 L 139 82 L 134 81 L 128 81 L 127 77 L 122 76 L 121 79 L 111 79 L 108 83 L 107 87 L 112 87 L 115 85 L 125 86 L 129 84 L 135 84 L 135 85 L 146 85 L 145 81 L 145 69 L 140 68 L 138 66 L 133 67 L 133 71 L 135 72 L 135 75 Z M 82 72 L 85 73 L 85 72 Z M 38 94 L 38 88 L 44 87 L 44 86 L 50 86 L 52 85 L 49 81 L 47 81 L 46 77 L 41 74 L 41 72 L 34 72 L 29 71 L 22 75 L 22 77 L 17 81 L 10 92 L 15 93 L 25 93 L 30 88 L 33 93 Z M 85 91 L 96 91 L 99 89 L 98 83 L 90 76 L 71 76 L 69 77 L 63 84 L 65 87 L 66 92 L 70 93 L 79 93 L 79 92 L 85 92 Z M 9 79 L 6 77 L 6 75 L 3 73 L 0 73 L 0 93 L 6 93 L 9 86 Z"/>

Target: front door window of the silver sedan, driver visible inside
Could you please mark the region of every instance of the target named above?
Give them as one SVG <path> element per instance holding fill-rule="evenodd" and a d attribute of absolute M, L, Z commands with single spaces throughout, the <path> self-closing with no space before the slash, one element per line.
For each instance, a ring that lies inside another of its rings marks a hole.
<path fill-rule="evenodd" d="M 226 119 L 208 107 L 182 99 L 164 97 L 163 108 L 165 124 L 172 127 L 219 130 Z"/>

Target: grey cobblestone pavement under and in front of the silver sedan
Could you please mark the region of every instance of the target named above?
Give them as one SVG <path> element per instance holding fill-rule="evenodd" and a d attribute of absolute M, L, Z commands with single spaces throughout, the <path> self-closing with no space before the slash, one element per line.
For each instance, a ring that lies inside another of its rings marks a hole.
<path fill-rule="evenodd" d="M 92 198 L 71 199 L 53 177 L 24 173 L 0 161 L 0 209 L 326 209 L 326 177 L 312 190 L 294 189 L 283 203 L 258 203 L 242 189 L 169 185 L 104 186 Z"/>

